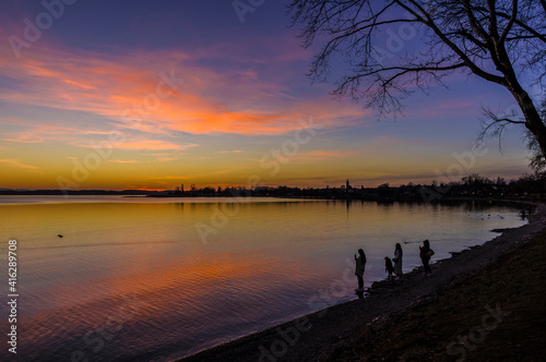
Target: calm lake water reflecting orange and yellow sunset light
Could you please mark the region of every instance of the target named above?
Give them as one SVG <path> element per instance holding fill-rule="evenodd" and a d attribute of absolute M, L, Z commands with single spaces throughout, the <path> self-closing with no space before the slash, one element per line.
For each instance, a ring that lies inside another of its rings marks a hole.
<path fill-rule="evenodd" d="M 396 242 L 410 272 L 424 239 L 434 262 L 524 224 L 473 203 L 119 196 L 0 196 L 0 219 L 2 361 L 11 239 L 17 360 L 169 361 L 356 299 L 359 248 L 368 287 Z"/>

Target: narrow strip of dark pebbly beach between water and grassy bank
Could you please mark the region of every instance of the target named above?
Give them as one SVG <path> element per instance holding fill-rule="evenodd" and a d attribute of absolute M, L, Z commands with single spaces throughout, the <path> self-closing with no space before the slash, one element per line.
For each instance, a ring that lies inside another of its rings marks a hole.
<path fill-rule="evenodd" d="M 434 274 L 430 277 L 425 277 L 422 267 L 418 267 L 400 280 L 373 282 L 369 295 L 365 299 L 336 304 L 176 361 L 328 360 L 336 354 L 336 351 L 354 343 L 366 325 L 379 323 L 378 321 L 388 324 L 391 316 L 402 315 L 434 299 L 440 290 L 479 273 L 499 257 L 512 253 L 521 244 L 546 230 L 546 204 L 517 203 L 522 206 L 536 206 L 534 214 L 527 217 L 529 224 L 505 229 L 500 236 L 483 245 L 437 261 L 432 264 Z M 306 329 L 307 327 L 310 328 Z M 275 346 L 278 349 L 276 354 Z"/>

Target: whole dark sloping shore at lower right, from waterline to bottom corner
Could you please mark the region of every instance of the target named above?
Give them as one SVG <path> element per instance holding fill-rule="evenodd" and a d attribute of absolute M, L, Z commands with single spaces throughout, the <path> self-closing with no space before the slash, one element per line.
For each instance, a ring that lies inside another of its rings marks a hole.
<path fill-rule="evenodd" d="M 436 261 L 431 276 L 417 268 L 375 282 L 364 299 L 179 361 L 542 360 L 546 206 L 536 206 L 527 225 Z"/>

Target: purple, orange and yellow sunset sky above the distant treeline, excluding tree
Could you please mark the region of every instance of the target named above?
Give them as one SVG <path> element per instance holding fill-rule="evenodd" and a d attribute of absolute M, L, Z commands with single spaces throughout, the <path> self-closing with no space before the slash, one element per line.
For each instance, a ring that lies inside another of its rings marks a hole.
<path fill-rule="evenodd" d="M 0 189 L 400 185 L 530 172 L 507 90 L 455 73 L 379 119 L 306 75 L 285 1 L 2 0 Z M 253 3 L 254 5 L 251 5 Z M 395 31 L 395 28 L 394 28 Z M 407 47 L 412 41 L 408 40 Z"/>

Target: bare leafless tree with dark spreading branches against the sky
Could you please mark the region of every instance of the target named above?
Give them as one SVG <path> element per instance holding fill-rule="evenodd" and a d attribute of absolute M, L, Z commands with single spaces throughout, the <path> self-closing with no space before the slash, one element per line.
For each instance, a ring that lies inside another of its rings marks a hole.
<path fill-rule="evenodd" d="M 399 111 L 412 88 L 426 92 L 465 70 L 508 89 L 523 114 L 491 112 L 484 132 L 524 125 L 546 155 L 546 125 L 521 80 L 523 72 L 535 85 L 546 80 L 545 0 L 290 0 L 288 9 L 306 47 L 325 38 L 311 63 L 313 81 L 325 80 L 334 55 L 347 60 L 348 74 L 334 94 L 364 99 L 384 114 Z M 417 35 L 419 47 L 404 47 Z"/>

